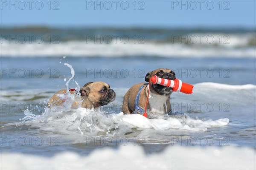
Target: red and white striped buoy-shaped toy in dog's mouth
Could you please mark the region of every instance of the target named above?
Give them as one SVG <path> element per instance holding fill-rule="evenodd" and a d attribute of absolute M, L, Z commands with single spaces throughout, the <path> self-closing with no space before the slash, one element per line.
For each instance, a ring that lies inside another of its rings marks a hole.
<path fill-rule="evenodd" d="M 187 83 L 182 82 L 180 79 L 170 80 L 170 79 L 163 79 L 157 76 L 153 76 L 151 79 L 153 84 L 159 84 L 166 87 L 171 87 L 172 91 L 182 92 L 185 94 L 192 94 L 193 85 L 189 85 Z"/>

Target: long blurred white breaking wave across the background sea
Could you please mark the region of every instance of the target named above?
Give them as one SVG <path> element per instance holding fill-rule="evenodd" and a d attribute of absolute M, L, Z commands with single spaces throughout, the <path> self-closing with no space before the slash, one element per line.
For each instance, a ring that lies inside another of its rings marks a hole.
<path fill-rule="evenodd" d="M 68 55 L 72 57 L 124 57 L 124 56 L 160 56 L 160 57 L 255 57 L 255 48 L 226 48 L 214 45 L 195 46 L 180 43 L 144 44 L 110 43 L 95 44 L 86 41 L 68 41 L 59 44 L 1 44 L 0 54 L 4 57 L 59 57 Z"/>

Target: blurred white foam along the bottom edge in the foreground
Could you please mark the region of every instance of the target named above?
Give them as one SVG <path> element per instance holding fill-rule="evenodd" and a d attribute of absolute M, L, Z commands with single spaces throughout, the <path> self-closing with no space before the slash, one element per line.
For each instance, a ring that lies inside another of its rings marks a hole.
<path fill-rule="evenodd" d="M 0 153 L 1 169 L 251 169 L 256 154 L 251 148 L 169 146 L 161 153 L 146 155 L 142 147 L 103 148 L 88 156 L 73 152 L 53 157 Z"/>

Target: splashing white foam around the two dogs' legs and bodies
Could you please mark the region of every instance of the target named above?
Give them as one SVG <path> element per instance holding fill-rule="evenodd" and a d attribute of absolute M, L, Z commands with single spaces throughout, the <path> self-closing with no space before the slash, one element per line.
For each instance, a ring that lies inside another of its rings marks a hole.
<path fill-rule="evenodd" d="M 190 130 L 205 132 L 208 128 L 226 126 L 229 119 L 200 120 L 192 119 L 188 115 L 159 116 L 147 119 L 140 114 L 124 115 L 105 114 L 102 111 L 87 108 L 67 109 L 63 111 L 58 108 L 46 109 L 42 115 L 36 118 L 32 112 L 26 112 L 25 118 L 15 125 L 31 125 L 45 131 L 58 131 L 60 133 L 82 134 L 84 136 L 124 136 L 127 132 L 133 132 L 134 127 L 140 130 L 153 129 L 165 130 Z M 30 119 L 32 118 L 32 119 Z M 6 126 L 8 126 L 7 124 Z M 12 125 L 12 124 L 10 124 Z"/>

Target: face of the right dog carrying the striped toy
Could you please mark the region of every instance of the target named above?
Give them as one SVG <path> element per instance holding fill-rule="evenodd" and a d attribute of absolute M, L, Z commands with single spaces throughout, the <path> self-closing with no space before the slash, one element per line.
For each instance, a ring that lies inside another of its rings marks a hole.
<path fill-rule="evenodd" d="M 167 68 L 159 68 L 157 70 L 148 72 L 148 74 L 145 76 L 145 81 L 149 82 L 151 77 L 153 77 L 155 75 L 157 77 L 164 78 L 164 79 L 171 79 L 171 80 L 176 79 L 175 72 L 173 72 L 172 70 L 167 69 Z M 153 92 L 155 91 L 157 94 L 161 94 L 161 95 L 172 94 L 172 88 L 170 88 L 170 87 L 166 87 L 166 86 L 158 85 L 158 84 L 154 85 L 152 83 L 151 83 L 150 87 L 151 87 L 150 89 L 153 90 Z"/>

